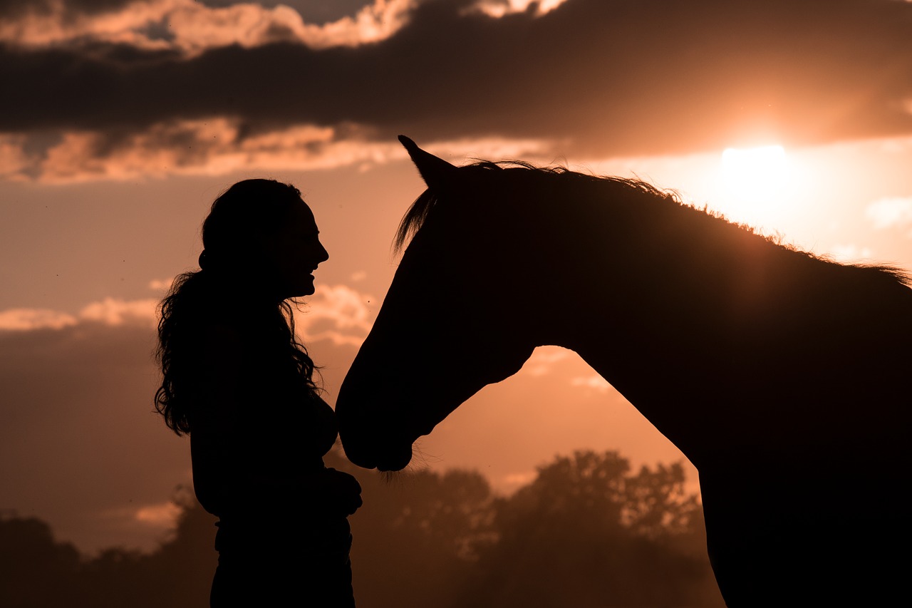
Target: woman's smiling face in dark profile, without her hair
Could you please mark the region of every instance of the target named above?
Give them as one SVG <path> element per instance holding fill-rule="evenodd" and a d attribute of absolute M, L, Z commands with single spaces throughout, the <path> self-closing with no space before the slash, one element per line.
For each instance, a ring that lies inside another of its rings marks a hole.
<path fill-rule="evenodd" d="M 314 275 L 321 262 L 329 259 L 320 243 L 314 214 L 304 201 L 292 204 L 274 238 L 265 246 L 267 262 L 275 268 L 277 295 L 281 299 L 314 293 Z"/>

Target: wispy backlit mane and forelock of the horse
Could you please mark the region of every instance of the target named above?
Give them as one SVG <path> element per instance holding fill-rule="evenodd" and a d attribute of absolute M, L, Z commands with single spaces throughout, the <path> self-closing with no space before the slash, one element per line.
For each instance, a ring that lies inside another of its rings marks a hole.
<path fill-rule="evenodd" d="M 804 251 L 800 247 L 786 243 L 783 241 L 781 235 L 763 235 L 751 225 L 731 222 L 731 220 L 725 217 L 725 215 L 711 210 L 708 205 L 704 205 L 702 208 L 700 208 L 691 204 L 687 204 L 681 199 L 677 191 L 660 189 L 657 186 L 644 182 L 640 179 L 579 173 L 571 171 L 566 167 L 559 165 L 539 167 L 531 162 L 515 160 L 499 162 L 480 160 L 473 162 L 472 164 L 461 166 L 458 169 L 461 172 L 460 176 L 462 177 L 464 175 L 465 179 L 469 180 L 486 175 L 495 175 L 497 176 L 497 179 L 503 179 L 508 174 L 517 175 L 515 171 L 520 170 L 519 175 L 523 175 L 523 177 L 520 177 L 519 179 L 531 179 L 534 176 L 552 176 L 552 179 L 566 180 L 567 185 L 570 185 L 571 183 L 604 183 L 608 187 L 611 187 L 613 185 L 621 191 L 625 192 L 627 195 L 639 195 L 657 201 L 664 200 L 669 204 L 674 204 L 679 207 L 686 207 L 697 213 L 702 213 L 703 215 L 707 215 L 710 218 L 721 222 L 722 224 L 730 225 L 732 229 L 739 229 L 743 232 L 751 234 L 752 236 L 756 236 L 757 238 L 765 239 L 770 244 L 772 244 L 772 246 L 778 246 L 783 249 L 787 249 L 795 254 L 819 260 L 824 263 L 845 267 L 861 268 L 872 272 L 877 272 L 882 275 L 886 275 L 893 281 L 900 283 L 907 288 L 912 288 L 912 275 L 910 275 L 906 270 L 903 270 L 902 268 L 890 266 L 887 264 L 840 264 L 834 261 L 834 259 L 831 257 L 817 256 L 811 252 Z M 508 170 L 510 170 L 509 173 Z M 448 193 L 440 192 L 434 188 L 428 188 L 423 193 L 421 193 L 418 198 L 415 199 L 415 202 L 409 206 L 408 211 L 406 211 L 405 215 L 402 216 L 402 219 L 399 222 L 399 228 L 397 229 L 396 235 L 393 238 L 394 253 L 400 253 L 409 244 L 411 238 L 418 233 L 421 226 L 423 226 L 427 221 L 434 207 L 440 204 L 440 199 L 446 194 Z"/>

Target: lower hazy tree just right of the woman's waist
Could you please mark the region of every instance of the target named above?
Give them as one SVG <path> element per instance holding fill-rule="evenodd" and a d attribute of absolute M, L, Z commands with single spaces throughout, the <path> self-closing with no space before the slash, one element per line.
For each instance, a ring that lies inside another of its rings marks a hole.
<path fill-rule="evenodd" d="M 330 453 L 326 464 L 358 476 L 364 506 L 349 518 L 358 608 L 445 608 L 490 542 L 493 496 L 475 471 L 382 477 Z"/>

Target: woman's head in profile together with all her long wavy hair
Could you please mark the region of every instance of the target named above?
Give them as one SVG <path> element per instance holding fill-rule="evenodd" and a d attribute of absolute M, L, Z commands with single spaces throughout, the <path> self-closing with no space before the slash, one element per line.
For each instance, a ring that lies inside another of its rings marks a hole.
<path fill-rule="evenodd" d="M 274 180 L 235 183 L 212 204 L 202 244 L 202 269 L 175 278 L 160 305 L 156 356 L 162 379 L 155 408 L 178 435 L 191 430 L 192 395 L 206 351 L 203 328 L 210 322 L 267 339 L 318 393 L 314 362 L 295 337 L 285 301 L 314 293 L 311 273 L 329 257 L 301 193 Z"/>

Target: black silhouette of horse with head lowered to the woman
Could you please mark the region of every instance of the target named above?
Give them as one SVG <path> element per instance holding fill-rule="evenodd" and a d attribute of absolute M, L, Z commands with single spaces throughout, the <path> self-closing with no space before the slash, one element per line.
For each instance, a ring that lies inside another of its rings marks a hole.
<path fill-rule="evenodd" d="M 781 246 L 646 183 L 455 167 L 400 141 L 428 189 L 338 395 L 352 462 L 407 466 L 420 435 L 559 345 L 698 468 L 730 606 L 906 595 L 905 275 Z"/>

